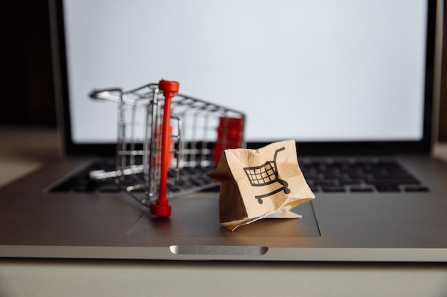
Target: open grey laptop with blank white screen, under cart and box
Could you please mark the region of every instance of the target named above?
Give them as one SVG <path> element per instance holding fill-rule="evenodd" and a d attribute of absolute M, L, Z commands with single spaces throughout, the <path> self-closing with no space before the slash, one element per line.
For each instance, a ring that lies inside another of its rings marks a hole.
<path fill-rule="evenodd" d="M 447 261 L 447 165 L 430 157 L 436 1 L 49 4 L 66 156 L 0 189 L 0 256 Z M 126 191 L 61 189 L 116 155 L 116 104 L 91 91 L 162 78 L 241 110 L 248 148 L 296 141 L 316 196 L 301 219 L 231 232 L 215 188 L 170 199 L 169 218 Z M 367 168 L 369 182 L 347 182 Z"/>

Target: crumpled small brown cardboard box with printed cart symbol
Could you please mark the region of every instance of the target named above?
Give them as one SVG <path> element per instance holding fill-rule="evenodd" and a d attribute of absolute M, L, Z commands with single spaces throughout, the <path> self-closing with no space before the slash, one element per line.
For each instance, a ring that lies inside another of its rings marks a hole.
<path fill-rule="evenodd" d="M 293 140 L 258 150 L 225 150 L 209 176 L 221 182 L 219 219 L 231 231 L 266 217 L 301 217 L 290 210 L 315 197 L 298 166 Z"/>

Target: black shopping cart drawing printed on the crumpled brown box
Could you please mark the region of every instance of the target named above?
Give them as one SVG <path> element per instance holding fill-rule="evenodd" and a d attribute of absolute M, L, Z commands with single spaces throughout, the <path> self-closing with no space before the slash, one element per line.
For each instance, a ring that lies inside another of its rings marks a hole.
<path fill-rule="evenodd" d="M 278 148 L 275 151 L 275 155 L 273 156 L 273 161 L 265 162 L 263 165 L 259 165 L 256 167 L 244 167 L 243 170 L 250 181 L 252 187 L 264 187 L 268 184 L 273 184 L 278 182 L 282 184 L 283 187 L 275 189 L 272 192 L 256 195 L 255 198 L 258 199 L 258 203 L 262 204 L 262 199 L 278 192 L 284 191 L 285 194 L 290 193 L 290 189 L 288 188 L 288 184 L 285 180 L 280 179 L 278 177 L 278 167 L 276 166 L 276 155 L 278 152 L 286 150 L 286 147 Z"/>

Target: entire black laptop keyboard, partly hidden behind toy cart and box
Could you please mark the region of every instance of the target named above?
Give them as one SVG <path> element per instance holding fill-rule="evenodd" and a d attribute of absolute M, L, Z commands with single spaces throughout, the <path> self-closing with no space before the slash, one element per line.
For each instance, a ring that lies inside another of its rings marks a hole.
<path fill-rule="evenodd" d="M 428 187 L 393 160 L 299 160 L 301 171 L 313 192 L 428 192 Z M 212 167 L 186 167 L 175 182 L 176 172 L 169 171 L 168 196 L 202 190 L 219 191 L 219 183 L 206 174 Z M 126 176 L 117 185 L 111 179 L 91 179 L 91 170 L 114 170 L 114 162 L 98 163 L 56 185 L 51 192 L 119 192 L 143 183 L 142 174 Z M 141 190 L 142 191 L 142 190 Z"/>

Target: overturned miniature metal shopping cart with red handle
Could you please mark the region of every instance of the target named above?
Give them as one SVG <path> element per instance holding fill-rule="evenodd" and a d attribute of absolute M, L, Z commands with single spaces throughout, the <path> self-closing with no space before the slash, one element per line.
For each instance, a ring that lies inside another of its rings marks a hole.
<path fill-rule="evenodd" d="M 245 147 L 243 113 L 181 95 L 178 89 L 179 83 L 160 80 L 134 90 L 90 93 L 118 104 L 116 168 L 94 170 L 90 177 L 115 179 L 160 217 L 170 214 L 166 198 L 216 186 L 206 173 L 223 150 Z M 199 175 L 209 182 L 201 182 Z"/>

